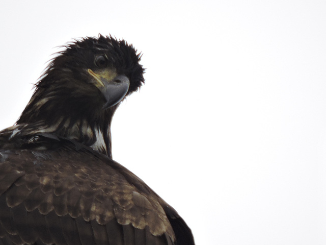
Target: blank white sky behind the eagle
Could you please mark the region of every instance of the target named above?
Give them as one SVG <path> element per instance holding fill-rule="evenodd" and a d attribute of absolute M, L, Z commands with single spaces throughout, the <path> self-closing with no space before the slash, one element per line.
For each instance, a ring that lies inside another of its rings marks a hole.
<path fill-rule="evenodd" d="M 118 109 L 114 159 L 199 244 L 326 244 L 325 1 L 3 1 L 1 129 L 56 46 L 112 34 L 146 84 Z"/>

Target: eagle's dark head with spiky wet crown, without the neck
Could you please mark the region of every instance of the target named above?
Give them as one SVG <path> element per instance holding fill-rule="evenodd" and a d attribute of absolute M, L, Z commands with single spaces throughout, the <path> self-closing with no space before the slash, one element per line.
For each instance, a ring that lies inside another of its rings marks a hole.
<path fill-rule="evenodd" d="M 140 54 L 124 40 L 102 35 L 75 40 L 51 60 L 30 104 L 49 107 L 51 113 L 55 106 L 70 113 L 101 113 L 142 85 L 139 61 Z"/>

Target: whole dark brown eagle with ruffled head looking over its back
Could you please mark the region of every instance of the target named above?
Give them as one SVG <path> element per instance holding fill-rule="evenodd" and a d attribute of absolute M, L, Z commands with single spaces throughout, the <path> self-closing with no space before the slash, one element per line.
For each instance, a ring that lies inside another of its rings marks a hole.
<path fill-rule="evenodd" d="M 194 244 L 178 213 L 112 160 L 111 120 L 144 82 L 139 61 L 132 45 L 100 35 L 50 62 L 0 132 L 0 245 Z"/>

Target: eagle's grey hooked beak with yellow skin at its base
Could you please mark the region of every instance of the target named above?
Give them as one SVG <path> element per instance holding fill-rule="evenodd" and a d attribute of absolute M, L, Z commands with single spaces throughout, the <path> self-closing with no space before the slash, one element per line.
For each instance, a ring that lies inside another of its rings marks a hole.
<path fill-rule="evenodd" d="M 95 79 L 94 85 L 101 91 L 106 99 L 103 109 L 117 105 L 127 94 L 130 81 L 125 75 L 101 73 L 96 74 L 93 70 L 88 69 L 88 73 Z"/>

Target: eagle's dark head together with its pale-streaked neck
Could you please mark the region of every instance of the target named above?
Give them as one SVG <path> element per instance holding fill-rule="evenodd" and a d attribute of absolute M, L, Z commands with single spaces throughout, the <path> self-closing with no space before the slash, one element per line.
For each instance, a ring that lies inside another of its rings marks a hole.
<path fill-rule="evenodd" d="M 17 124 L 92 145 L 96 134 L 110 134 L 119 103 L 144 83 L 140 58 L 132 45 L 112 36 L 68 43 L 50 61 Z"/>

